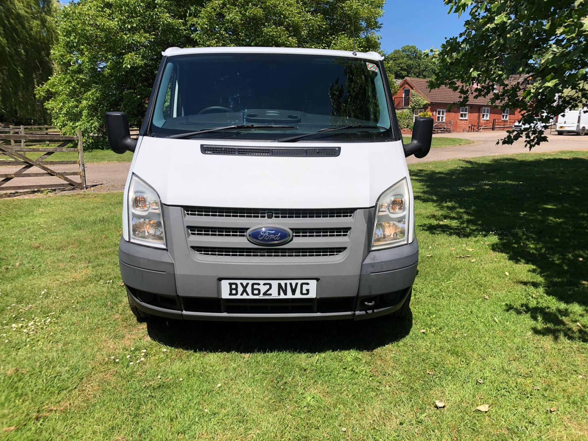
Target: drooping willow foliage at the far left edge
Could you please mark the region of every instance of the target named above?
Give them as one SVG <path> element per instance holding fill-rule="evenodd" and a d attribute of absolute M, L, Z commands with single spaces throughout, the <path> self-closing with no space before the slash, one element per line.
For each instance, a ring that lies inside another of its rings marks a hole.
<path fill-rule="evenodd" d="M 44 122 L 35 88 L 51 75 L 54 0 L 0 1 L 0 121 Z"/>

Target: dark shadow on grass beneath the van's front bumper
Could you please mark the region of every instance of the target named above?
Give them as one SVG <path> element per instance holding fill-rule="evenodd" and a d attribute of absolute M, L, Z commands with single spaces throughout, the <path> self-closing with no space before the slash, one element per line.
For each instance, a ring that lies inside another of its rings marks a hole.
<path fill-rule="evenodd" d="M 412 313 L 400 320 L 383 317 L 359 322 L 147 322 L 153 340 L 205 352 L 373 350 L 404 338 L 411 328 Z"/>

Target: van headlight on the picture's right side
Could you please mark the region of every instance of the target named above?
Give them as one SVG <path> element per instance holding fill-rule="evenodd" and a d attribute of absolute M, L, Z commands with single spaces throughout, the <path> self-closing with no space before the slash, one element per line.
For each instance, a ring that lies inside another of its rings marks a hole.
<path fill-rule="evenodd" d="M 408 243 L 409 201 L 406 178 L 380 196 L 374 216 L 372 250 Z"/>

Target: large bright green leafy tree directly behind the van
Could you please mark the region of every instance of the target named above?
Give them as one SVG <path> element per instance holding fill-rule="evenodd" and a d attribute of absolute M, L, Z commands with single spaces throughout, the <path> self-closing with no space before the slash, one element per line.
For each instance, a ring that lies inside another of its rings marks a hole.
<path fill-rule="evenodd" d="M 169 46 L 349 50 L 355 21 L 358 51 L 377 51 L 382 6 L 383 0 L 80 0 L 59 13 L 56 72 L 39 96 L 48 98 L 65 132 L 104 135 L 106 111 L 141 123 Z"/>

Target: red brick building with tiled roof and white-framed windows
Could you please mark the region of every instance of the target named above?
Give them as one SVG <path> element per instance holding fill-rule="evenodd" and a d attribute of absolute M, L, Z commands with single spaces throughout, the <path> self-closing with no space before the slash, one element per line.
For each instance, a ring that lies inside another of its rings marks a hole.
<path fill-rule="evenodd" d="M 399 83 L 398 92 L 394 96 L 397 110 L 413 109 L 413 116 L 429 111 L 433 114 L 435 131 L 467 132 L 480 128 L 497 130 L 510 129 L 520 119 L 519 109 L 502 109 L 488 104 L 488 98 L 470 97 L 466 107 L 454 105 L 459 101 L 459 92 L 445 86 L 430 90 L 424 78 L 405 78 Z M 412 91 L 417 91 L 427 104 L 424 108 L 414 109 L 410 104 Z"/>

